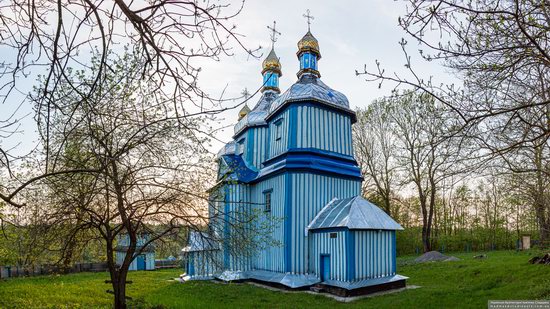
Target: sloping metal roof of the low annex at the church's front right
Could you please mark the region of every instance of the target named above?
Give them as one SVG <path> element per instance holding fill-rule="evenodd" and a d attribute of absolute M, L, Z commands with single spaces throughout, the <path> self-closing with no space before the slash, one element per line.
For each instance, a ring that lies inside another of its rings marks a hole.
<path fill-rule="evenodd" d="M 309 230 L 346 227 L 356 230 L 403 230 L 388 214 L 355 196 L 330 201 L 308 225 Z"/>

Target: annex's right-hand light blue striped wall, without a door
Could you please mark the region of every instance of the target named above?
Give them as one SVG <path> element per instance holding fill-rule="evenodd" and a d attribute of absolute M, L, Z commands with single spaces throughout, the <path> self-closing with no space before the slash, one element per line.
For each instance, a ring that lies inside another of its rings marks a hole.
<path fill-rule="evenodd" d="M 355 233 L 355 278 L 395 275 L 395 231 L 365 230 Z"/>

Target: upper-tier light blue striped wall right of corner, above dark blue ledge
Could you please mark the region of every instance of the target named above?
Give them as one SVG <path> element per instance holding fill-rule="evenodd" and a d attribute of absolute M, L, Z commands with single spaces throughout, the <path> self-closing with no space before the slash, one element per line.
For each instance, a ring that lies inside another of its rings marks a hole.
<path fill-rule="evenodd" d="M 297 114 L 295 147 L 353 156 L 349 116 L 313 104 L 293 108 Z"/>

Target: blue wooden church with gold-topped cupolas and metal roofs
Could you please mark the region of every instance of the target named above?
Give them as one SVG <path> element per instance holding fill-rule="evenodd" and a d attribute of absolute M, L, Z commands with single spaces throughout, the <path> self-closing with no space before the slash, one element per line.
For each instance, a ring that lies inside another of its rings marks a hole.
<path fill-rule="evenodd" d="M 298 80 L 282 94 L 273 48 L 263 61 L 262 96 L 252 110 L 240 111 L 234 140 L 218 153 L 209 228 L 190 233 L 182 278 L 254 280 L 343 296 L 404 287 L 395 259 L 402 227 L 360 196 L 351 136 L 356 115 L 346 96 L 321 81 L 319 43 L 309 29 L 297 56 Z M 237 216 L 231 214 L 247 211 L 273 223 L 270 237 L 279 245 L 241 256 L 231 250 L 223 240 L 231 238 Z"/>

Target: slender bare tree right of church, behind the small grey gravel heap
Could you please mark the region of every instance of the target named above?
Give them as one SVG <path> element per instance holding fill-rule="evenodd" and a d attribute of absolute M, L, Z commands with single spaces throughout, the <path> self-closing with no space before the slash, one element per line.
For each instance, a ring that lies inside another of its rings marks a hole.
<path fill-rule="evenodd" d="M 412 183 L 417 192 L 422 243 L 424 251 L 430 251 L 438 191 L 443 180 L 464 172 L 461 162 L 468 148 L 462 139 L 449 137 L 455 121 L 432 97 L 406 92 L 392 104 L 397 160 L 405 174 L 404 183 Z"/>

